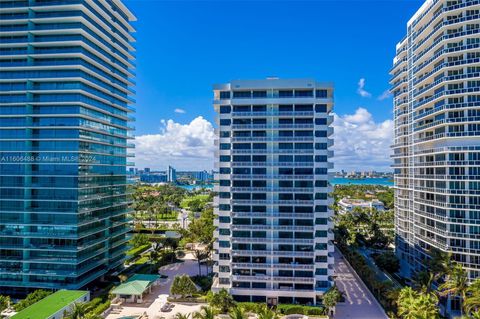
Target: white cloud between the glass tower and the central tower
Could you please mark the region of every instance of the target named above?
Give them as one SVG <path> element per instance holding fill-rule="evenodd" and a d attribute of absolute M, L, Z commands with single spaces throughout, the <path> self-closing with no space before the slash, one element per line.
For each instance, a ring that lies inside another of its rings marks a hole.
<path fill-rule="evenodd" d="M 188 124 L 161 120 L 158 134 L 137 136 L 135 166 L 166 169 L 211 170 L 215 134 L 212 124 L 199 116 Z"/>

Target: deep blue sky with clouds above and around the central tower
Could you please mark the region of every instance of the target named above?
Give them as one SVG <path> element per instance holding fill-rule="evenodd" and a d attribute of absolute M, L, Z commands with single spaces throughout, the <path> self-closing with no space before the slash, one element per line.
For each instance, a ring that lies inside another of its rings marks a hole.
<path fill-rule="evenodd" d="M 385 124 L 392 116 L 392 100 L 379 97 L 389 87 L 395 44 L 422 4 L 413 0 L 124 2 L 138 18 L 137 165 L 162 168 L 173 162 L 179 168 L 206 169 L 213 162 L 210 141 L 205 139 L 212 138 L 214 83 L 267 76 L 333 81 L 334 110 L 345 122 L 340 123 L 345 134 L 351 124 L 358 129 L 367 123 L 373 131 Z M 175 143 L 169 143 L 171 139 Z M 343 142 L 348 140 L 343 136 Z M 159 145 L 165 143 L 175 149 Z M 198 160 L 182 162 L 185 156 Z M 357 163 L 365 169 L 380 164 L 356 156 L 350 161 L 343 158 L 336 168 L 352 169 Z M 384 158 L 381 167 L 388 165 Z"/>

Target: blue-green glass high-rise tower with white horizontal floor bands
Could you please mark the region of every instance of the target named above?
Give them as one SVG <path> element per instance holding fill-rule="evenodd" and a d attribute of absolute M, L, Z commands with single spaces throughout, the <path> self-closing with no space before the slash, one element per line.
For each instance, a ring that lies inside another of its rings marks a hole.
<path fill-rule="evenodd" d="M 125 260 L 133 19 L 120 0 L 0 2 L 0 292 Z"/>

